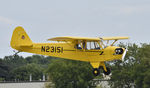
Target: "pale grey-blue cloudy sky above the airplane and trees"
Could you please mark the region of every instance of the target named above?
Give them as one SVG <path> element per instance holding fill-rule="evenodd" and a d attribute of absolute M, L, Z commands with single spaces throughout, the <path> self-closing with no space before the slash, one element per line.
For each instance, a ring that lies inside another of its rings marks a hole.
<path fill-rule="evenodd" d="M 129 36 L 125 42 L 149 43 L 150 0 L 0 0 L 0 58 L 14 54 L 10 40 L 17 26 L 37 43 L 58 36 Z"/>

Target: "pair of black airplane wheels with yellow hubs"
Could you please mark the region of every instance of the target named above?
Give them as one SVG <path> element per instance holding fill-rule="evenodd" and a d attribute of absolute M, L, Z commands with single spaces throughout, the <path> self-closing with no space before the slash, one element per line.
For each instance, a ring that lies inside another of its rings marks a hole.
<path fill-rule="evenodd" d="M 103 73 L 104 73 L 105 75 L 109 75 L 109 74 L 111 73 L 110 68 L 108 68 L 108 67 L 106 67 L 106 70 L 107 70 L 107 71 L 104 70 L 104 67 L 94 68 L 94 69 L 93 69 L 93 74 L 94 74 L 94 76 L 98 76 L 98 75 L 100 74 L 100 69 L 103 70 Z"/>

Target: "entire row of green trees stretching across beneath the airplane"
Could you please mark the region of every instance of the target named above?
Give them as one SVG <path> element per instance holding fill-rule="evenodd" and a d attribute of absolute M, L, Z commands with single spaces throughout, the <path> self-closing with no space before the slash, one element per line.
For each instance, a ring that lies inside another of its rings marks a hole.
<path fill-rule="evenodd" d="M 123 44 L 118 46 L 128 49 L 125 61 L 105 63 L 111 68 L 111 88 L 149 88 L 150 87 L 150 44 Z M 28 81 L 32 74 L 33 80 L 41 79 L 43 74 L 56 88 L 92 88 L 92 66 L 88 62 L 72 61 L 54 57 L 18 55 L 0 58 L 1 81 Z"/>

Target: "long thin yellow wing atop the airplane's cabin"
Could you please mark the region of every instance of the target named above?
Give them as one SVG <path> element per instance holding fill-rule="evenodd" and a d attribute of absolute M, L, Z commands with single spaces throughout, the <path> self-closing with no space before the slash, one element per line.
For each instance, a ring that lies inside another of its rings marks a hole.
<path fill-rule="evenodd" d="M 73 40 L 86 40 L 86 41 L 100 41 L 100 40 L 122 40 L 122 39 L 129 39 L 129 37 L 71 37 L 71 36 L 65 36 L 65 37 L 55 37 L 50 38 L 48 41 L 73 41 Z"/>

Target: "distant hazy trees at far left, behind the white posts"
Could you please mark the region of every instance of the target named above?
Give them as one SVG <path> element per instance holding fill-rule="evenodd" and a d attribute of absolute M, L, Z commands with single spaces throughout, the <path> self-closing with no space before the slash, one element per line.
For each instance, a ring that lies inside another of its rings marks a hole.
<path fill-rule="evenodd" d="M 5 56 L 0 59 L 0 80 L 1 81 L 29 81 L 32 74 L 33 80 L 39 80 L 48 68 L 53 57 L 33 55 L 22 57 L 18 55 Z"/>

